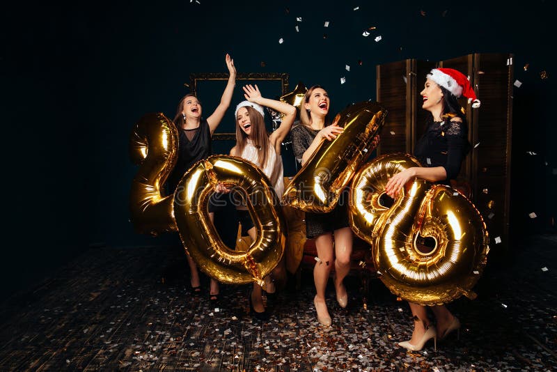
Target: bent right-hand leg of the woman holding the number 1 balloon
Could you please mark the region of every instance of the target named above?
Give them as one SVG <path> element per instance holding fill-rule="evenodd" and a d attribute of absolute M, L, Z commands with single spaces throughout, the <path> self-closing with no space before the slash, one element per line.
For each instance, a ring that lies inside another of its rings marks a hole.
<path fill-rule="evenodd" d="M 350 227 L 335 231 L 335 290 L 340 307 L 346 307 L 348 294 L 343 280 L 350 272 L 350 256 L 352 255 L 352 230 Z"/>

